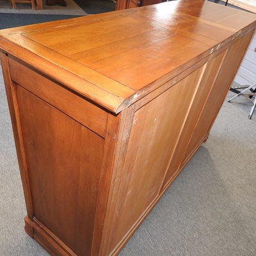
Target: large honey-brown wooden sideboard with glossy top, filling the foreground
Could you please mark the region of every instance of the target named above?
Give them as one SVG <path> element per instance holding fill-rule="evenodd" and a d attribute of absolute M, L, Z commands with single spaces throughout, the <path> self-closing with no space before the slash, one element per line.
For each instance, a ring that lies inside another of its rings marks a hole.
<path fill-rule="evenodd" d="M 0 31 L 29 236 L 118 254 L 207 140 L 255 20 L 183 0 Z"/>

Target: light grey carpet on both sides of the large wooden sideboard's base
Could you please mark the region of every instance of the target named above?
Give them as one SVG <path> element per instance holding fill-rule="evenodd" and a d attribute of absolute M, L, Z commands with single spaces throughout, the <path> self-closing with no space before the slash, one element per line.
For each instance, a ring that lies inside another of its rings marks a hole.
<path fill-rule="evenodd" d="M 120 256 L 256 255 L 256 113 L 248 120 L 250 107 L 243 97 L 223 104 L 207 143 L 196 152 Z M 24 232 L 25 215 L 1 74 L 1 256 L 48 255 Z"/>

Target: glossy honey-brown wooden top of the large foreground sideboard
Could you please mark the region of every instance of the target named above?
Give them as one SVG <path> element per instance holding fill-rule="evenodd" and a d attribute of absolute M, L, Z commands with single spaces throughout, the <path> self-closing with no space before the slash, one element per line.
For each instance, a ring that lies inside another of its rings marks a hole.
<path fill-rule="evenodd" d="M 256 15 L 180 0 L 0 31 L 0 49 L 118 113 L 256 28 Z"/>

